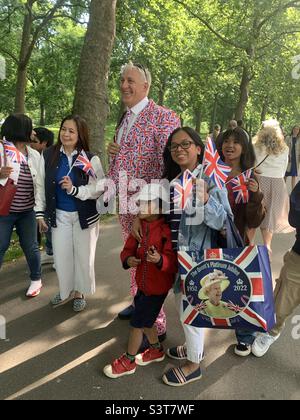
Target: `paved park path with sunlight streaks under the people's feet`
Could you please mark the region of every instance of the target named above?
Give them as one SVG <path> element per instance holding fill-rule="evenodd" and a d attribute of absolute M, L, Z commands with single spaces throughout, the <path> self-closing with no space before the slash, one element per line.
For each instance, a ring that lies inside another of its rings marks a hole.
<path fill-rule="evenodd" d="M 162 372 L 176 361 L 140 367 L 133 376 L 111 380 L 102 368 L 126 347 L 129 326 L 117 313 L 130 302 L 129 276 L 119 261 L 121 233 L 116 218 L 102 225 L 96 258 L 97 294 L 88 309 L 75 314 L 71 303 L 52 309 L 57 291 L 50 266 L 44 269 L 44 288 L 27 300 L 26 264 L 7 265 L 0 274 L 0 315 L 7 321 L 7 339 L 0 340 L 0 399 L 300 399 L 300 340 L 292 339 L 292 324 L 262 359 L 233 354 L 231 331 L 206 332 L 203 379 L 183 388 L 161 381 Z M 259 240 L 259 235 L 258 235 Z M 274 241 L 273 274 L 294 235 Z M 300 269 L 300 268 L 299 268 Z M 166 346 L 183 342 L 172 294 L 166 303 Z M 300 308 L 295 315 L 300 315 Z"/>

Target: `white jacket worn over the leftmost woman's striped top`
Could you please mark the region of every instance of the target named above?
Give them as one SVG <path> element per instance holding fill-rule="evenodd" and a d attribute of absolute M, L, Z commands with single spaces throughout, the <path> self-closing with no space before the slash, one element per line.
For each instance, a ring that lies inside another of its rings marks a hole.
<path fill-rule="evenodd" d="M 37 174 L 38 174 L 38 170 L 39 170 L 41 156 L 40 156 L 39 152 L 32 149 L 30 146 L 26 146 L 26 149 L 27 149 L 27 153 L 28 153 L 28 167 L 30 169 L 32 180 L 33 180 L 34 196 L 36 197 Z M 4 166 L 4 149 L 3 149 L 3 144 L 2 143 L 0 143 L 0 156 L 1 156 L 1 166 Z M 13 179 L 15 184 L 17 184 L 18 179 L 19 179 L 19 175 L 20 175 L 20 164 L 11 163 L 11 162 L 9 162 L 9 158 L 8 158 L 7 165 L 13 168 L 13 172 L 12 172 L 10 178 Z M 7 180 L 8 180 L 8 178 L 0 179 L 0 184 L 5 185 Z"/>

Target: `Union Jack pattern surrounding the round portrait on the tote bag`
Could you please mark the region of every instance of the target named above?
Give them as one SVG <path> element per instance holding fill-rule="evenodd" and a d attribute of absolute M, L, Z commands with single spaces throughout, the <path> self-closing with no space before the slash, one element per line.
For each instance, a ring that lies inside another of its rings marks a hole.
<path fill-rule="evenodd" d="M 238 315 L 232 318 L 213 318 L 201 314 L 202 302 L 192 299 L 187 292 L 188 278 L 192 270 L 197 270 L 200 262 L 195 262 L 195 255 L 191 252 L 180 251 L 179 267 L 182 281 L 183 313 L 181 320 L 187 325 L 200 328 L 236 329 L 246 328 L 254 331 L 270 331 L 275 324 L 274 299 L 272 288 L 271 268 L 268 260 L 268 253 L 265 247 L 246 247 L 236 249 L 210 249 L 204 251 L 201 263 L 209 260 L 230 262 L 244 271 L 251 285 L 251 296 L 244 294 L 241 297 L 239 308 L 231 302 L 230 309 L 238 308 Z M 213 270 L 212 270 L 213 271 Z M 198 294 L 201 286 L 197 278 Z M 233 292 L 232 292 L 233 293 Z M 194 295 L 195 296 L 195 295 Z M 193 302 L 194 300 L 194 302 Z"/>

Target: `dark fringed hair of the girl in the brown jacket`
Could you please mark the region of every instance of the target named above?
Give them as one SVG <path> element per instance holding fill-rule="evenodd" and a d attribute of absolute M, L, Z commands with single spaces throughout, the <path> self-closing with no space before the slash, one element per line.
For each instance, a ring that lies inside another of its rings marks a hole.
<path fill-rule="evenodd" d="M 230 137 L 233 137 L 235 141 L 237 141 L 242 146 L 241 169 L 243 171 L 246 171 L 247 169 L 253 168 L 256 160 L 254 147 L 252 145 L 251 139 L 248 138 L 246 132 L 239 127 L 229 129 L 218 136 L 216 144 L 221 159 L 225 161 L 222 147 L 224 142 Z"/>

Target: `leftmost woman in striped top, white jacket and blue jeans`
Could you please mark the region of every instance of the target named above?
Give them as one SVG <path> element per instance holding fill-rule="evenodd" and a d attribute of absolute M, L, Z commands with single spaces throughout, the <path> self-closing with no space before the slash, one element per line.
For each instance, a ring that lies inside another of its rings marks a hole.
<path fill-rule="evenodd" d="M 26 115 L 10 115 L 1 127 L 1 137 L 21 153 L 19 156 L 22 157 L 22 162 L 16 156 L 11 156 L 8 158 L 8 166 L 5 166 L 5 146 L 3 143 L 0 144 L 0 184 L 4 186 L 8 178 L 11 178 L 17 185 L 9 215 L 0 216 L 0 268 L 10 245 L 13 229 L 16 228 L 30 271 L 31 284 L 26 293 L 27 297 L 38 296 L 42 288 L 40 251 L 34 213 L 40 155 L 29 147 L 31 135 L 32 121 Z"/>

